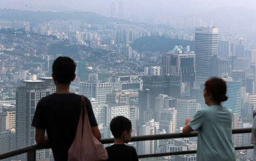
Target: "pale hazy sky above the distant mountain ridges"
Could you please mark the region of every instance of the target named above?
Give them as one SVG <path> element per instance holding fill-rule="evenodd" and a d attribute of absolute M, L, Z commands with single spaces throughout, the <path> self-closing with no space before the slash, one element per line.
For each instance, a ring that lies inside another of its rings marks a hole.
<path fill-rule="evenodd" d="M 0 8 L 32 11 L 53 11 L 64 8 L 110 15 L 110 6 L 118 0 L 0 0 Z M 57 6 L 56 6 L 57 5 Z M 256 9 L 256 0 L 124 0 L 124 15 L 196 15 L 217 7 L 236 6 Z M 58 8 L 58 9 L 57 9 Z"/>

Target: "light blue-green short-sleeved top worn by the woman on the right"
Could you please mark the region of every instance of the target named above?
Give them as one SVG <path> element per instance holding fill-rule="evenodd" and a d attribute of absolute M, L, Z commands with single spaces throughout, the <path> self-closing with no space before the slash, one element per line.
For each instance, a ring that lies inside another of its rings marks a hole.
<path fill-rule="evenodd" d="M 232 110 L 218 105 L 196 113 L 189 126 L 198 130 L 197 161 L 236 161 L 232 117 Z"/>

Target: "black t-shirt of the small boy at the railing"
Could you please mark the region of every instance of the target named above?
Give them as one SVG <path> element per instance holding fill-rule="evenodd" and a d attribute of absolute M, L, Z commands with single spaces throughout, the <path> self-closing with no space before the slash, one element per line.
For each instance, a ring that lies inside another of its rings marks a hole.
<path fill-rule="evenodd" d="M 106 147 L 109 155 L 108 161 L 139 161 L 136 150 L 133 146 L 125 144 L 113 144 Z"/>

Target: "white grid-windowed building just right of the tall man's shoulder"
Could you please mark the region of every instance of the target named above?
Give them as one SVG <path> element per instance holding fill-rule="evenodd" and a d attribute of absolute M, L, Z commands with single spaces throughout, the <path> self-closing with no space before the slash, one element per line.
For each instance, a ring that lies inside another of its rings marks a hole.
<path fill-rule="evenodd" d="M 113 92 L 113 83 L 100 83 L 100 81 L 80 82 L 79 94 L 87 98 L 95 98 L 98 100 L 98 105 L 104 105 L 106 102 L 106 94 Z"/>

